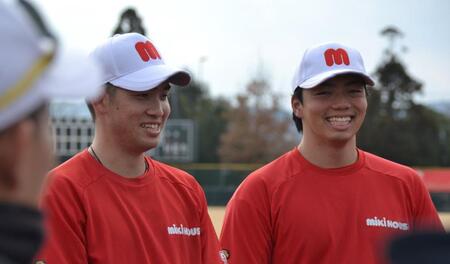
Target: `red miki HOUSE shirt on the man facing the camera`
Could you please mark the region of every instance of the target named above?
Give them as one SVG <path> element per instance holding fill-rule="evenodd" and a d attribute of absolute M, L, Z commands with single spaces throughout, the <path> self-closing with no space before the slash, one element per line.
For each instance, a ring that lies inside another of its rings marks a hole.
<path fill-rule="evenodd" d="M 228 263 L 384 263 L 393 236 L 444 230 L 413 169 L 358 156 L 350 166 L 322 169 L 294 149 L 250 174 L 225 215 Z"/>

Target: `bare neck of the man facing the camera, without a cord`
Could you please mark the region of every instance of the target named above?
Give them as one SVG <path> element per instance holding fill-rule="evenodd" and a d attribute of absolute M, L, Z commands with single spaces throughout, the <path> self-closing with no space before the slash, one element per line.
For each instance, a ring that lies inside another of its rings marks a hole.
<path fill-rule="evenodd" d="M 341 168 L 358 160 L 356 138 L 347 142 L 320 143 L 302 139 L 298 150 L 306 160 L 321 168 Z"/>

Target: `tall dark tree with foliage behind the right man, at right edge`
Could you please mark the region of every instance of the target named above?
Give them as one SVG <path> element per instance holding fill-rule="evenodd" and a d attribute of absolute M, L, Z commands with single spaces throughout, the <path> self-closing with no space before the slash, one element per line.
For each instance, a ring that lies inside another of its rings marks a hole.
<path fill-rule="evenodd" d="M 410 166 L 449 166 L 450 120 L 414 101 L 423 85 L 407 72 L 396 51 L 400 30 L 387 27 L 381 35 L 389 45 L 375 72 L 377 85 L 368 98 L 359 146 Z"/>

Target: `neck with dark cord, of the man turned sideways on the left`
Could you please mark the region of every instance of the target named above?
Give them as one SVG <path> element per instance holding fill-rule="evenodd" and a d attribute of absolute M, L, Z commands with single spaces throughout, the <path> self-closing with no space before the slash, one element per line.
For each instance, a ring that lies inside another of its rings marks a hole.
<path fill-rule="evenodd" d="M 89 152 L 104 167 L 125 178 L 135 178 L 146 171 L 144 153 L 127 151 L 117 143 L 108 143 L 94 138 Z"/>

